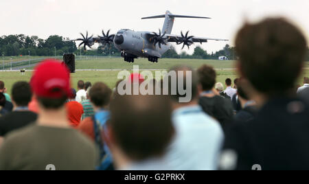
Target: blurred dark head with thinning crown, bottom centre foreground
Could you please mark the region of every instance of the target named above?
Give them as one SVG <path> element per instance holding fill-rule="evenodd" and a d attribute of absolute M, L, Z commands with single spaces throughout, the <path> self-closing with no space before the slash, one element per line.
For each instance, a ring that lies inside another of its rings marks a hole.
<path fill-rule="evenodd" d="M 174 135 L 171 113 L 166 96 L 117 95 L 108 132 L 116 165 L 124 164 L 120 157 L 139 162 L 163 156 Z"/>

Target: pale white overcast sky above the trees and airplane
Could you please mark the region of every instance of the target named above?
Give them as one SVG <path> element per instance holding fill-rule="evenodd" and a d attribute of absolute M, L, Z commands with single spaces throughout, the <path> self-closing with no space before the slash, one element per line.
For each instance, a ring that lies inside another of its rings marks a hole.
<path fill-rule="evenodd" d="M 170 10 L 173 14 L 211 17 L 176 18 L 172 30 L 172 34 L 190 30 L 193 36 L 229 39 L 203 43 L 208 53 L 226 44 L 234 45 L 234 36 L 244 22 L 260 21 L 266 16 L 284 16 L 293 21 L 309 41 L 308 0 L 1 0 L 0 7 L 0 36 L 25 34 L 47 38 L 57 34 L 74 39 L 87 30 L 97 36 L 102 29 L 111 29 L 115 34 L 122 28 L 157 32 L 164 19 L 141 17 Z M 176 50 L 180 52 L 181 46 Z M 192 54 L 194 47 L 184 50 Z"/>

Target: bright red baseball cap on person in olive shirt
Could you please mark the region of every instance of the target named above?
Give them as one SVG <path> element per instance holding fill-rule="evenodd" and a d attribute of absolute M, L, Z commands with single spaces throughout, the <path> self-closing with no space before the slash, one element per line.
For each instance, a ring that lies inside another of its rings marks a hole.
<path fill-rule="evenodd" d="M 70 73 L 60 60 L 43 60 L 34 69 L 30 84 L 38 97 L 56 99 L 71 95 Z"/>

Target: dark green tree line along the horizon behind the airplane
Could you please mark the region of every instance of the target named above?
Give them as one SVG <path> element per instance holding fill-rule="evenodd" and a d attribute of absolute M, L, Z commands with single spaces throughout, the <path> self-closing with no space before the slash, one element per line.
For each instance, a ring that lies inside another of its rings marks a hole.
<path fill-rule="evenodd" d="M 38 36 L 25 36 L 24 34 L 0 36 L 0 56 L 61 56 L 62 54 L 76 54 L 86 56 L 121 56 L 113 44 L 109 47 L 99 46 L 98 49 L 78 49 L 76 43 L 69 41 L 69 38 L 53 35 L 47 39 Z M 196 59 L 218 59 L 226 56 L 229 60 L 238 58 L 235 47 L 225 45 L 216 52 L 208 53 L 202 47 L 194 48 L 192 55 L 182 51 L 178 54 L 174 47 L 163 54 L 163 58 L 196 58 Z M 306 60 L 309 61 L 309 48 L 307 49 Z"/>

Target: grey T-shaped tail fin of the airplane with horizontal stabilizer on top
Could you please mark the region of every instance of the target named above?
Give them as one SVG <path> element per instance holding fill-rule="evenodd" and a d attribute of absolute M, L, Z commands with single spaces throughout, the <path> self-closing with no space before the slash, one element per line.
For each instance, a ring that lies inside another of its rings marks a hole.
<path fill-rule="evenodd" d="M 190 19 L 211 19 L 209 17 L 205 16 L 186 16 L 186 15 L 179 15 L 179 14 L 172 14 L 170 11 L 166 11 L 165 14 L 156 15 L 156 16 L 147 16 L 143 17 L 141 19 L 158 19 L 158 18 L 165 18 L 162 32 L 165 32 L 166 34 L 172 33 L 172 28 L 174 25 L 175 18 L 190 18 Z"/>

